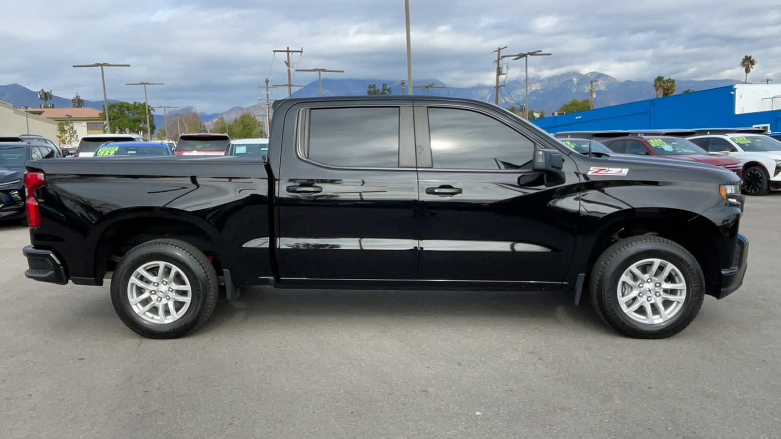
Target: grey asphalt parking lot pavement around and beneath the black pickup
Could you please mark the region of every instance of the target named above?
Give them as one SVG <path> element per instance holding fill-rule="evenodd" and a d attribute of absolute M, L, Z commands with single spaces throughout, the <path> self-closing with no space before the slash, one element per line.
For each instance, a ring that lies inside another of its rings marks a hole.
<path fill-rule="evenodd" d="M 781 437 L 781 191 L 739 291 L 661 341 L 550 294 L 247 291 L 173 341 L 23 276 L 0 225 L 0 437 Z"/>

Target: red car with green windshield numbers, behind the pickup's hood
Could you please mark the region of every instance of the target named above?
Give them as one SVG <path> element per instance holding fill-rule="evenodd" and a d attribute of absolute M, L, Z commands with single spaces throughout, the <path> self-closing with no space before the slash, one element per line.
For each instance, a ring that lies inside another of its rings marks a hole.
<path fill-rule="evenodd" d="M 743 179 L 740 160 L 728 155 L 710 154 L 703 148 L 681 137 L 672 136 L 631 136 L 600 140 L 612 152 L 621 154 L 658 155 L 668 159 L 689 162 L 708 163 L 730 170 Z"/>

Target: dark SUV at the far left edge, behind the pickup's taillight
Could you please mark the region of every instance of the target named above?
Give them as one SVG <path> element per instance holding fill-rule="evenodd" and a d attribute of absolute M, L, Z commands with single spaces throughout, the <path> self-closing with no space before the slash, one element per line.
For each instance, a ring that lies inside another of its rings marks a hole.
<path fill-rule="evenodd" d="M 0 142 L 0 219 L 24 218 L 24 166 L 30 160 L 62 157 L 56 147 L 36 142 Z"/>

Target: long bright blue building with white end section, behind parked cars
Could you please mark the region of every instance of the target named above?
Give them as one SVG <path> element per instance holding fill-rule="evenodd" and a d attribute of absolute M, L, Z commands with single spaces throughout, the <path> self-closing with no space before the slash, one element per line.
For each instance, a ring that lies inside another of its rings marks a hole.
<path fill-rule="evenodd" d="M 767 127 L 781 131 L 781 85 L 736 84 L 534 120 L 549 133 L 574 130 Z"/>

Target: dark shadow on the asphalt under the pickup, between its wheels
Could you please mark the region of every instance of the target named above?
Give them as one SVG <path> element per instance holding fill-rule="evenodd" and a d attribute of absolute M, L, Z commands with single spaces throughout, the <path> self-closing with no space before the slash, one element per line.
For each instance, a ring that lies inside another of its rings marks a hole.
<path fill-rule="evenodd" d="M 241 330 L 256 324 L 322 319 L 398 319 L 403 323 L 506 323 L 530 327 L 575 326 L 613 334 L 590 307 L 572 305 L 562 294 L 507 291 L 344 291 L 246 289 L 241 298 L 220 298 L 209 323 L 199 330 Z"/>

